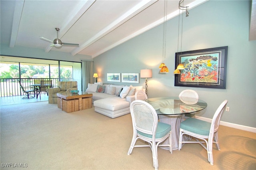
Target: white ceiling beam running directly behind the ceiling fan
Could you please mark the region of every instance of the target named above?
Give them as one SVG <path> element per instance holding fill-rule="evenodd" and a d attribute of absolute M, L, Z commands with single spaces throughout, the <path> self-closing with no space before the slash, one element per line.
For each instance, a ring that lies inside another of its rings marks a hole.
<path fill-rule="evenodd" d="M 63 22 L 62 27 L 60 31 L 58 32 L 59 39 L 64 36 L 68 30 L 76 23 L 76 21 L 86 12 L 90 6 L 95 2 L 96 0 L 82 0 L 80 4 L 77 5 L 77 7 L 70 12 L 70 16 Z M 45 52 L 49 52 L 53 47 L 50 47 L 52 43 L 49 43 L 49 45 L 45 48 Z"/>

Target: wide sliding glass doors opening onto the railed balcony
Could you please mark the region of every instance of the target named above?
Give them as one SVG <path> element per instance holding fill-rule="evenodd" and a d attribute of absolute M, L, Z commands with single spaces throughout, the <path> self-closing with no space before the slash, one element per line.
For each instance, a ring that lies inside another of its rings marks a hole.
<path fill-rule="evenodd" d="M 1 56 L 1 97 L 21 95 L 18 80 L 29 86 L 36 79 L 52 80 L 54 86 L 58 81 L 77 81 L 78 90 L 82 91 L 82 63 Z"/>

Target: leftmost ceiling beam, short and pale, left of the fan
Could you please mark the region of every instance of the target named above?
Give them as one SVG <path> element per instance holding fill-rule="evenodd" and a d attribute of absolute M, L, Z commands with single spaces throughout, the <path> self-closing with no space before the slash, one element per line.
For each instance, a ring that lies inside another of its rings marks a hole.
<path fill-rule="evenodd" d="M 13 20 L 12 20 L 10 48 L 13 48 L 16 43 L 24 2 L 25 2 L 25 0 L 17 0 L 15 2 L 15 9 L 14 9 L 14 15 L 13 15 Z"/>

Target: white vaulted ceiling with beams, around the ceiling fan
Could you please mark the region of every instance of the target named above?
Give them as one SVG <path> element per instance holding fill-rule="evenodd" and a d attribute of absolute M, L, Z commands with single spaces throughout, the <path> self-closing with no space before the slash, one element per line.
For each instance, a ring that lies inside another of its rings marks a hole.
<path fill-rule="evenodd" d="M 189 9 L 207 0 L 185 0 Z M 168 19 L 179 14 L 178 0 L 168 0 Z M 1 0 L 1 44 L 27 46 L 96 57 L 161 24 L 164 0 Z M 50 47 L 56 30 L 62 42 Z"/>

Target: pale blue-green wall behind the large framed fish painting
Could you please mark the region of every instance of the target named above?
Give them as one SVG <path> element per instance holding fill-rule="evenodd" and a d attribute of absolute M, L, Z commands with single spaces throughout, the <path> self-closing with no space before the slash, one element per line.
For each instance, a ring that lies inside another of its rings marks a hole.
<path fill-rule="evenodd" d="M 210 0 L 189 10 L 183 22 L 182 51 L 228 46 L 226 89 L 189 88 L 208 103 L 197 115 L 212 118 L 227 99 L 230 112 L 224 112 L 222 121 L 256 128 L 256 41 L 248 41 L 250 3 Z M 153 70 L 153 77 L 148 79 L 149 98 L 178 96 L 188 89 L 174 86 L 172 73 L 178 50 L 178 17 L 167 23 L 165 63 L 170 72 L 164 74 L 158 69 L 163 60 L 162 34 L 160 25 L 94 58 L 98 81 L 107 82 L 107 73 L 139 73 L 148 68 Z M 132 85 L 144 85 L 144 81 L 140 78 L 139 84 Z"/>

